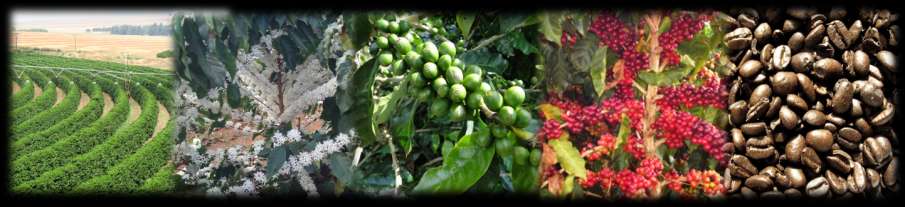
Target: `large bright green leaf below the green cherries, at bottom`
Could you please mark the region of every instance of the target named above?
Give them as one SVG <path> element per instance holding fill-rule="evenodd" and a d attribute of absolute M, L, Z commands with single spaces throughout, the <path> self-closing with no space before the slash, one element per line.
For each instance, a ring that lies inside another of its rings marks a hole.
<path fill-rule="evenodd" d="M 423 195 L 461 194 L 487 172 L 493 154 L 493 148 L 482 148 L 471 134 L 465 135 L 443 157 L 443 165 L 424 173 L 413 192 Z"/>

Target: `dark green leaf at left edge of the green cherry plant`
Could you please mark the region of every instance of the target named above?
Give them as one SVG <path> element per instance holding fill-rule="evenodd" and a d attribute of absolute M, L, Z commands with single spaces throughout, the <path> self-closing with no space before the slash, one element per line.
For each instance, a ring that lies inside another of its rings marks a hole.
<path fill-rule="evenodd" d="M 344 77 L 336 92 L 337 105 L 342 113 L 338 128 L 341 131 L 355 130 L 365 145 L 374 142 L 377 134 L 372 119 L 374 103 L 371 97 L 377 71 L 376 59 L 368 60 L 349 77 Z"/>

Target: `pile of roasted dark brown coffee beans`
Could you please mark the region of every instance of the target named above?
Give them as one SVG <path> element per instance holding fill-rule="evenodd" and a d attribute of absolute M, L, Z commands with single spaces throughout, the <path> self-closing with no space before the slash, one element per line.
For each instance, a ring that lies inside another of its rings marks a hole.
<path fill-rule="evenodd" d="M 882 198 L 898 192 L 897 14 L 737 9 L 724 41 L 734 198 Z"/>

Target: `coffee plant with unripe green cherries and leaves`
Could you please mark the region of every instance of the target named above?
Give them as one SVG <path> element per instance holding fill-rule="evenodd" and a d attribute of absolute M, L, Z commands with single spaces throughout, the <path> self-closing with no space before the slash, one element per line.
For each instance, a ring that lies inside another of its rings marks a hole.
<path fill-rule="evenodd" d="M 535 43 L 521 33 L 534 25 L 528 16 L 374 12 L 351 20 L 347 32 L 367 60 L 337 92 L 339 128 L 361 138 L 353 170 L 390 181 L 362 190 L 537 189 L 539 123 L 525 88 L 536 70 L 515 68 L 534 67 Z"/>

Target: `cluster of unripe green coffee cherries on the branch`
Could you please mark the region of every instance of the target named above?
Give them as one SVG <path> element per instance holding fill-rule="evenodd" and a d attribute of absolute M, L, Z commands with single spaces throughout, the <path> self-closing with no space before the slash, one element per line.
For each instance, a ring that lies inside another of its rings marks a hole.
<path fill-rule="evenodd" d="M 422 40 L 406 20 L 379 19 L 375 26 L 378 30 L 374 40 L 379 49 L 378 63 L 385 73 L 404 75 L 415 99 L 429 104 L 430 118 L 458 122 L 484 114 L 489 118 L 484 120 L 490 120 L 491 134 L 497 138 L 506 137 L 510 127 L 525 128 L 531 123 L 531 112 L 522 107 L 525 90 L 521 80 L 491 84 L 490 78 L 485 78 L 489 76 L 480 66 L 467 65 L 456 57 L 465 50 L 462 41 L 456 44 L 439 40 L 441 43 L 437 45 L 430 40 Z M 507 86 L 505 90 L 500 90 Z M 497 139 L 498 143 L 494 144 L 509 146 L 504 148 L 515 145 L 515 140 L 503 140 Z M 486 146 L 489 139 L 480 142 Z M 505 151 L 512 152 L 511 149 Z"/>

